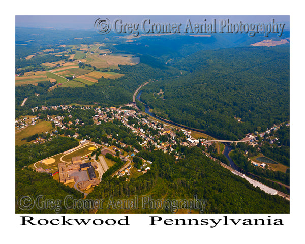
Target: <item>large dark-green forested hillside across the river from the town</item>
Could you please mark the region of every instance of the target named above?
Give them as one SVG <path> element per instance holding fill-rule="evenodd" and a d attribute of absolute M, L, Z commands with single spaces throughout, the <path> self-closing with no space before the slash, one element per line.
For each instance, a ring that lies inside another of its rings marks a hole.
<path fill-rule="evenodd" d="M 289 119 L 289 45 L 200 51 L 174 66 L 187 74 L 141 95 L 161 117 L 234 140 Z"/>

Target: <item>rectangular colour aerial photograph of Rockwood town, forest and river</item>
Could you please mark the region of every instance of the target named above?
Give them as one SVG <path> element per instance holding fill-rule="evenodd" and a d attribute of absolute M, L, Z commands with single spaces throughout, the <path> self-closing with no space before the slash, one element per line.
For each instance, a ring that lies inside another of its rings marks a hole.
<path fill-rule="evenodd" d="M 14 208 L 289 214 L 290 16 L 16 15 Z"/>

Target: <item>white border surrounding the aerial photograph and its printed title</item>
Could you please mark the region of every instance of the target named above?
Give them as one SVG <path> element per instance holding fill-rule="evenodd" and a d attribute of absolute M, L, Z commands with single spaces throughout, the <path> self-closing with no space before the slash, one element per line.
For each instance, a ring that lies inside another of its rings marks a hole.
<path fill-rule="evenodd" d="M 5 131 L 2 142 L 2 154 L 9 154 L 8 158 L 3 157 L 4 164 L 12 163 L 14 158 L 14 138 L 13 120 L 14 119 L 14 28 L 15 15 L 290 15 L 290 40 L 291 40 L 291 208 L 288 215 L 271 215 L 272 218 L 282 218 L 285 225 L 282 227 L 275 226 L 257 226 L 257 227 L 220 227 L 207 228 L 198 226 L 148 226 L 147 215 L 130 215 L 130 219 L 134 222 L 131 226 L 125 227 L 76 227 L 73 228 L 60 227 L 35 227 L 28 228 L 20 226 L 20 216 L 14 214 L 15 211 L 15 193 L 12 186 L 15 185 L 14 168 L 13 173 L 8 173 L 8 179 L 3 180 L 3 197 L 2 199 L 2 220 L 1 223 L 5 227 L 4 233 L 9 234 L 10 239 L 18 240 L 21 243 L 54 243 L 57 241 L 86 241 L 86 242 L 102 242 L 114 241 L 133 242 L 133 243 L 155 243 L 159 242 L 191 242 L 191 241 L 213 241 L 213 242 L 229 242 L 229 243 L 267 243 L 269 241 L 280 240 L 281 243 L 301 237 L 301 227 L 303 210 L 303 188 L 301 184 L 302 172 L 304 170 L 303 158 L 301 158 L 302 147 L 301 140 L 298 135 L 302 134 L 302 113 L 303 103 L 303 55 L 304 55 L 304 38 L 303 38 L 303 13 L 301 6 L 295 6 L 291 2 L 277 1 L 255 1 L 246 3 L 245 1 L 124 1 L 124 2 L 107 2 L 105 1 L 88 1 L 88 2 L 64 2 L 64 1 L 12 1 L 9 7 L 4 7 L 5 13 L 2 16 L 3 32 L 2 47 L 5 57 L 5 63 L 2 67 L 6 67 L 3 82 L 5 85 L 2 89 L 1 104 L 5 118 L 2 118 L 2 130 Z M 83 7 L 82 7 L 83 6 Z M 302 57 L 302 58 L 301 58 Z M 10 82 L 8 82 L 10 81 Z M 8 92 L 9 91 L 9 92 Z M 9 119 L 7 119 L 9 118 Z M 12 119 L 11 119 L 12 118 Z M 8 130 L 6 128 L 9 128 Z M 9 153 L 4 147 L 12 148 Z M 12 167 L 9 166 L 11 169 Z M 9 183 L 8 183 L 9 182 Z M 6 201 L 4 202 L 4 199 Z M 43 218 L 44 215 L 35 215 L 35 217 Z M 123 215 L 124 216 L 124 215 Z M 220 218 L 224 215 L 207 215 L 204 218 Z M 229 216 L 229 215 L 227 215 Z M 231 215 L 230 215 L 231 216 Z M 261 215 L 233 215 L 233 218 L 260 218 Z M 72 215 L 68 215 L 72 218 Z M 117 218 L 115 215 L 114 218 Z M 183 218 L 189 218 L 189 215 L 182 215 Z M 192 218 L 195 216 L 191 216 Z M 52 218 L 55 218 L 55 215 Z M 77 218 L 89 218 L 89 215 L 77 215 Z M 92 217 L 97 218 L 97 217 Z M 165 218 L 177 218 L 176 215 L 166 215 Z M 203 218 L 200 215 L 199 218 Z M 10 232 L 9 230 L 13 232 Z M 68 233 L 69 234 L 66 234 Z M 26 237 L 25 237 L 26 236 Z M 5 239 L 5 238 L 4 238 Z"/>

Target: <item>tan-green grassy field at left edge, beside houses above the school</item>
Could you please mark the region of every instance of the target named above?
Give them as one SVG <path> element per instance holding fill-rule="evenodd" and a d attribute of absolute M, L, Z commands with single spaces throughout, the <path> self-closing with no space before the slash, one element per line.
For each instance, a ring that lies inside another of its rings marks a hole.
<path fill-rule="evenodd" d="M 51 129 L 53 129 L 53 127 L 49 121 L 39 121 L 36 125 L 29 125 L 27 128 L 15 133 L 15 144 L 17 146 L 26 144 L 26 140 L 21 141 L 21 139 L 35 134 L 44 133 Z"/>

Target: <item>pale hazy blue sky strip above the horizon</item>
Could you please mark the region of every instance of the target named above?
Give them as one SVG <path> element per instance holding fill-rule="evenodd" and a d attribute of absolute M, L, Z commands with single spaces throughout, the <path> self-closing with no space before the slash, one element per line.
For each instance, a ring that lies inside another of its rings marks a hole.
<path fill-rule="evenodd" d="M 145 18 L 150 18 L 152 21 L 159 23 L 172 23 L 178 22 L 184 24 L 187 19 L 190 19 L 194 22 L 201 23 L 204 19 L 206 21 L 211 21 L 215 18 L 217 21 L 219 19 L 230 19 L 230 22 L 239 22 L 243 23 L 270 23 L 271 19 L 275 19 L 276 22 L 285 23 L 285 27 L 289 27 L 289 15 L 231 15 L 231 16 L 220 16 L 220 15 L 16 15 L 15 16 L 15 26 L 16 27 L 34 27 L 34 28 L 70 28 L 70 29 L 93 29 L 94 22 L 98 18 L 108 18 L 110 21 L 113 21 L 117 18 L 122 19 L 124 22 L 139 23 L 141 24 L 142 20 Z"/>

